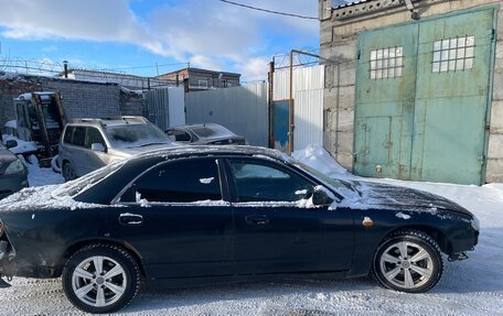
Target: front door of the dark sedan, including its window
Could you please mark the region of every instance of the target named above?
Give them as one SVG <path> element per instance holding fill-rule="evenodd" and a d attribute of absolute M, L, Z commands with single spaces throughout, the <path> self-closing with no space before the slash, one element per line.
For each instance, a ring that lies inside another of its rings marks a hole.
<path fill-rule="evenodd" d="M 340 260 L 330 263 L 331 270 L 349 268 L 352 215 L 338 215 L 328 206 L 308 207 L 315 182 L 260 159 L 228 159 L 226 170 L 233 193 L 237 273 L 320 271 L 327 266 L 322 264 L 327 250 L 341 251 Z M 332 244 L 325 242 L 325 232 Z"/>

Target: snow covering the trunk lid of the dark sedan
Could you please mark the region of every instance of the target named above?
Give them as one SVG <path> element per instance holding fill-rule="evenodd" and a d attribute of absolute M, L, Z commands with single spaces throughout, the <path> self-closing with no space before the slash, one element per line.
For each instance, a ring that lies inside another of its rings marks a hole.
<path fill-rule="evenodd" d="M 36 187 L 26 187 L 12 194 L 1 200 L 1 211 L 14 210 L 44 210 L 44 209 L 81 209 L 105 207 L 105 205 L 82 203 L 74 200 L 71 196 L 54 197 L 52 193 L 60 185 L 46 185 Z"/>

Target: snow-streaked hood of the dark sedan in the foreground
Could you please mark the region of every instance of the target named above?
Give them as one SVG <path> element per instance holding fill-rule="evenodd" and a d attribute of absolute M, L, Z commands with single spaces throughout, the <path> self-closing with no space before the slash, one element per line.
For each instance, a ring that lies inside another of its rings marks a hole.
<path fill-rule="evenodd" d="M 368 207 L 386 206 L 393 209 L 416 211 L 448 210 L 473 216 L 469 210 L 452 200 L 419 189 L 371 182 L 353 182 L 353 185 L 360 194 L 356 200 Z"/>

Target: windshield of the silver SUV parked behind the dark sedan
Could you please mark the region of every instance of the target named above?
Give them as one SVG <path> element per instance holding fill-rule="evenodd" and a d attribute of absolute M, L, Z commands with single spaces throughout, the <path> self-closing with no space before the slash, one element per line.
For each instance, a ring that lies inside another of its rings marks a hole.
<path fill-rule="evenodd" d="M 169 137 L 152 124 L 124 124 L 108 127 L 104 130 L 111 148 L 116 149 L 171 143 Z"/>

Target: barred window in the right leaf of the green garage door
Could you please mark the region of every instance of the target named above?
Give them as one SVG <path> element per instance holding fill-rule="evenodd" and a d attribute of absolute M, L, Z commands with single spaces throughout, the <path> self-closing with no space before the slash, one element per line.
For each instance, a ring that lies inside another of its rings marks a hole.
<path fill-rule="evenodd" d="M 458 36 L 434 42 L 431 72 L 446 73 L 471 69 L 475 36 Z"/>

